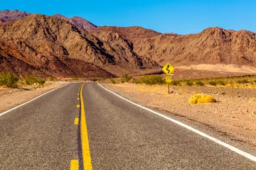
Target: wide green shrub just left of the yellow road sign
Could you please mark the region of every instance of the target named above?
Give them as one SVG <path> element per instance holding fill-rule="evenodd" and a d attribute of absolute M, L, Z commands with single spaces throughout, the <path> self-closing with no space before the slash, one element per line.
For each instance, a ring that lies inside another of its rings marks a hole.
<path fill-rule="evenodd" d="M 147 84 L 147 85 L 154 85 L 154 84 L 164 84 L 165 81 L 163 77 L 160 75 L 146 75 L 143 77 L 139 77 L 134 81 L 135 84 Z"/>

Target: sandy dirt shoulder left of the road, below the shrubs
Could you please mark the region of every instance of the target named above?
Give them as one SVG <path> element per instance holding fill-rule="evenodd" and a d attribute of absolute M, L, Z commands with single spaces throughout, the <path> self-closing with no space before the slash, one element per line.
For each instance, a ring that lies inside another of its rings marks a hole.
<path fill-rule="evenodd" d="M 64 81 L 56 81 L 56 82 L 48 82 L 43 88 L 38 88 L 36 90 L 31 89 L 0 89 L 0 113 L 9 110 L 10 108 L 14 108 L 15 106 L 21 105 L 22 103 L 26 103 L 41 94 L 46 93 L 52 89 L 55 89 L 59 86 L 63 86 L 68 84 L 68 82 Z"/>

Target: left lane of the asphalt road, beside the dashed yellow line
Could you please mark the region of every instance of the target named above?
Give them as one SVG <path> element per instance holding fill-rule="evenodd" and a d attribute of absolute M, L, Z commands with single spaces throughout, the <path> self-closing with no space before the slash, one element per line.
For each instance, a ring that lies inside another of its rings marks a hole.
<path fill-rule="evenodd" d="M 78 159 L 78 90 L 69 84 L 0 116 L 0 169 L 69 169 Z"/>

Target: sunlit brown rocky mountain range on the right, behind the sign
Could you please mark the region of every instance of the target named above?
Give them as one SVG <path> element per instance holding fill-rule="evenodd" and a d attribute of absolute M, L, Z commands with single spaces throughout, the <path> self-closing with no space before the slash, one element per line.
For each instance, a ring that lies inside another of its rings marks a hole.
<path fill-rule="evenodd" d="M 127 29 L 137 30 L 135 34 Z M 256 67 L 256 35 L 247 30 L 207 28 L 191 35 L 153 33 L 141 28 L 98 28 L 90 33 L 98 38 L 118 33 L 129 40 L 134 52 L 161 65 L 171 62 L 174 66 L 191 64 L 235 64 Z"/>

